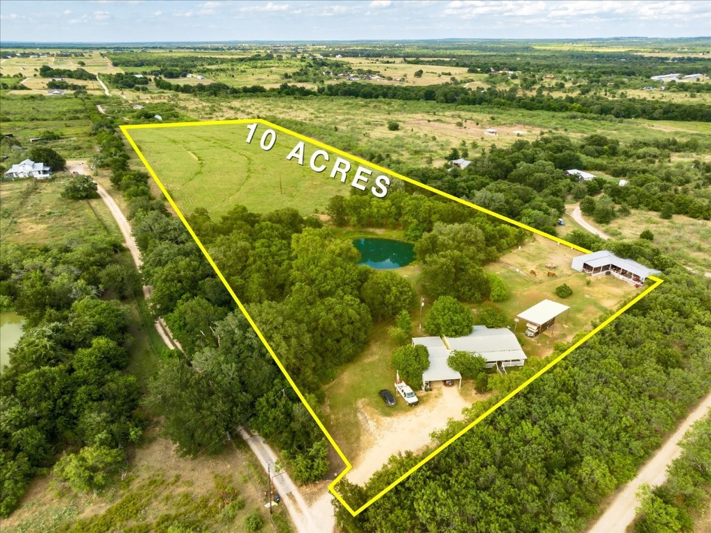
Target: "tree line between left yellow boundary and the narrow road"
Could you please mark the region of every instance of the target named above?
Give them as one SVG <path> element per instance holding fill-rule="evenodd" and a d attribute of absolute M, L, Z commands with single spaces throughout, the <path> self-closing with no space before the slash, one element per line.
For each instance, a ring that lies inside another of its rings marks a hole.
<path fill-rule="evenodd" d="M 151 308 L 166 319 L 184 349 L 161 360 L 146 406 L 164 417 L 164 434 L 185 455 L 218 453 L 242 425 L 282 451 L 294 479 L 319 480 L 328 468 L 328 449 L 311 415 L 242 313 L 235 311 L 230 294 L 182 222 L 169 215 L 163 201 L 152 198 L 149 176 L 129 168 L 114 124 L 93 112 L 92 120 L 100 146 L 97 164 L 111 170 L 112 185 L 128 201 L 143 259 L 141 275 L 153 287 Z M 250 215 L 243 209 L 235 212 L 228 224 L 244 228 L 241 217 L 251 220 Z M 269 274 L 263 269 L 272 268 L 269 247 L 279 247 L 269 239 L 287 226 L 294 230 L 305 224 L 288 211 L 269 220 L 257 228 L 262 239 L 255 242 L 263 259 L 255 273 L 262 275 Z M 318 404 L 314 399 L 310 403 Z"/>

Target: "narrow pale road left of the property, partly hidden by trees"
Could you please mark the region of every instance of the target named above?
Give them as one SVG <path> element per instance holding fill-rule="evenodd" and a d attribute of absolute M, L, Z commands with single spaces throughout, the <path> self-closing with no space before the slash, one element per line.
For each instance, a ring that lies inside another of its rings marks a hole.
<path fill-rule="evenodd" d="M 67 161 L 67 168 L 70 172 L 77 171 L 79 173 L 89 175 L 89 168 L 86 161 Z M 132 235 L 131 226 L 129 225 L 128 220 L 126 220 L 124 213 L 111 195 L 109 195 L 109 193 L 107 193 L 101 185 L 97 184 L 97 187 L 99 196 L 102 200 L 104 200 L 104 203 L 107 208 L 109 208 L 114 220 L 116 220 L 119 230 L 121 230 L 124 237 L 124 243 L 131 253 L 131 257 L 136 265 L 136 268 L 140 269 L 141 252 L 139 252 L 136 245 L 136 241 Z M 143 294 L 146 298 L 151 296 L 151 287 L 144 286 Z M 164 323 L 163 318 L 159 318 L 156 321 L 155 326 L 159 335 L 161 335 L 163 342 L 166 346 L 168 346 L 168 348 L 171 350 L 174 348 L 183 350 L 180 343 L 178 343 L 178 341 L 171 335 L 171 332 L 168 329 L 168 326 Z M 247 444 L 252 449 L 252 452 L 258 459 L 260 459 L 260 463 L 262 463 L 264 470 L 267 470 L 267 461 L 269 461 L 272 465 L 273 471 L 274 463 L 277 461 L 277 455 L 274 451 L 272 451 L 272 449 L 269 448 L 269 446 L 267 446 L 267 444 L 265 444 L 260 437 L 250 436 L 250 434 L 242 428 L 240 428 L 240 436 L 247 441 Z M 314 510 L 318 512 L 319 517 L 316 519 L 311 516 L 311 511 L 309 510 L 309 506 L 306 505 L 304 497 L 301 496 L 296 484 L 291 478 L 289 478 L 287 473 L 284 472 L 283 474 L 277 475 L 277 477 L 274 478 L 274 485 L 277 487 L 279 495 L 282 496 L 282 501 L 287 507 L 287 512 L 289 512 L 289 516 L 292 518 L 294 527 L 296 527 L 299 533 L 333 532 L 333 528 L 336 524 L 336 520 L 333 517 L 333 507 L 330 505 L 324 505 L 324 497 L 321 497 L 321 499 L 316 502 L 316 505 L 314 505 Z M 331 495 L 327 492 L 325 496 L 325 498 L 327 498 L 326 502 L 330 502 L 330 496 Z"/>

